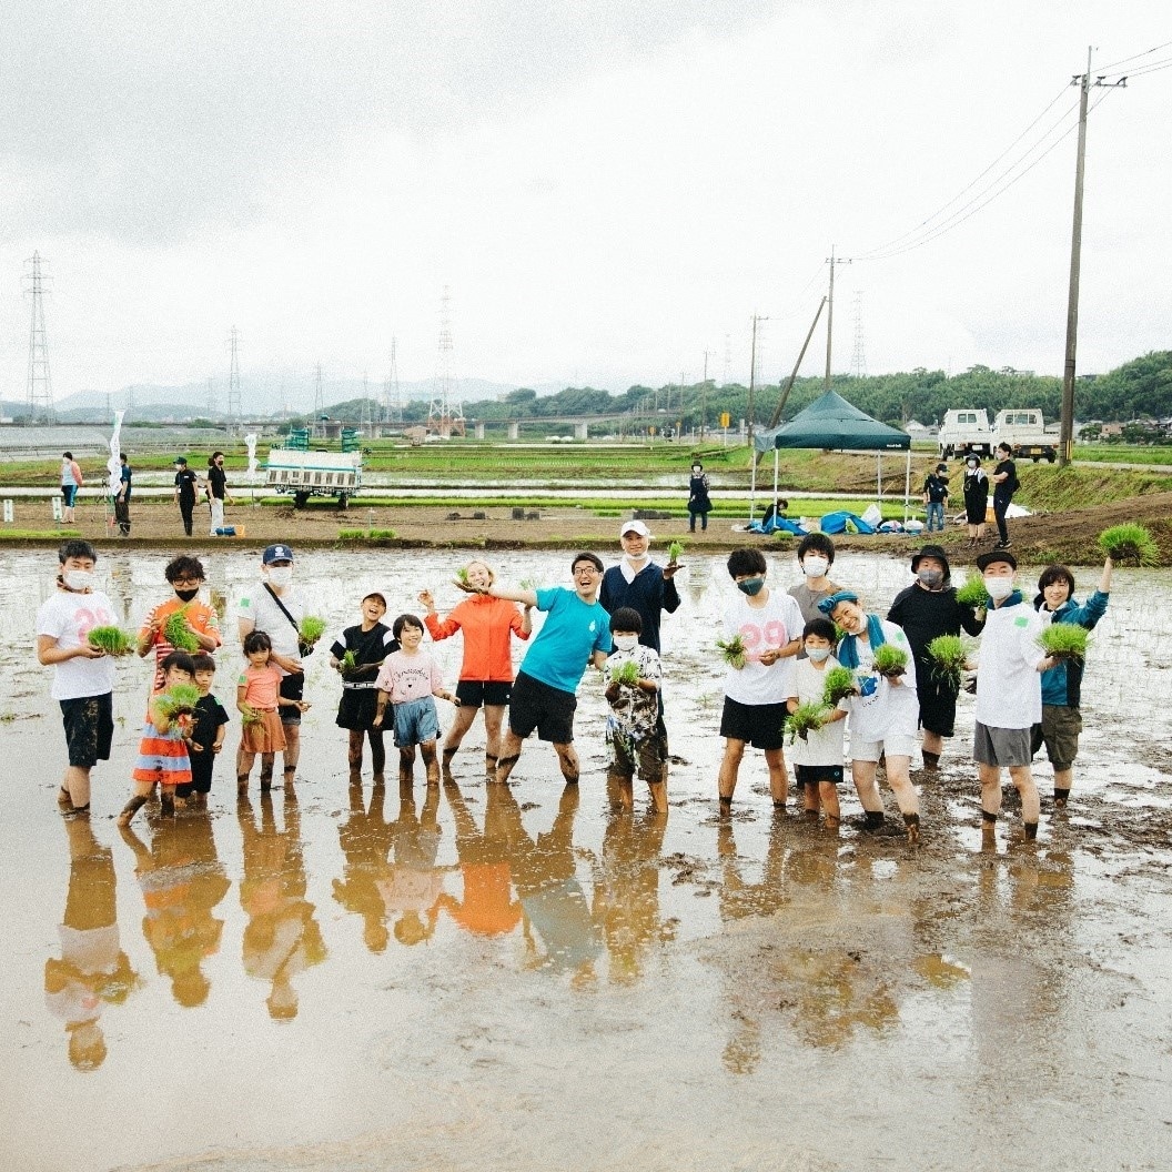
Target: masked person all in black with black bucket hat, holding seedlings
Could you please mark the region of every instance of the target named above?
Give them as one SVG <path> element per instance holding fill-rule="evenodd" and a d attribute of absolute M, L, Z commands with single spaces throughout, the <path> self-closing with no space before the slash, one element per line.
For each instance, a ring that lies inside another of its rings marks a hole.
<path fill-rule="evenodd" d="M 887 612 L 887 620 L 904 628 L 915 656 L 915 694 L 920 702 L 924 729 L 924 768 L 934 772 L 940 765 L 945 738 L 953 735 L 956 721 L 956 693 L 940 677 L 928 655 L 928 643 L 939 635 L 959 635 L 961 629 L 979 635 L 983 616 L 972 606 L 956 601 L 948 556 L 939 545 L 926 545 L 912 556 L 915 581 L 900 591 Z"/>

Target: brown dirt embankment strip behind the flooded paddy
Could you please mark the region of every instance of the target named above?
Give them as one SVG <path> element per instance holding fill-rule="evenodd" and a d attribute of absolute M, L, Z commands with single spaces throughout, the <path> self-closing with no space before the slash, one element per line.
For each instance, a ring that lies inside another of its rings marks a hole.
<path fill-rule="evenodd" d="M 587 509 L 541 510 L 532 520 L 513 520 L 507 507 L 485 507 L 483 519 L 473 519 L 469 506 L 438 509 L 367 507 L 361 502 L 342 512 L 333 506 L 311 506 L 294 510 L 291 506 L 231 506 L 227 523 L 243 531 L 243 537 L 210 538 L 207 512 L 196 513 L 196 536 L 191 543 L 203 547 L 209 541 L 236 540 L 250 547 L 270 541 L 287 541 L 294 546 L 322 547 L 339 543 L 339 531 L 360 530 L 363 533 L 394 530 L 394 540 L 379 543 L 389 548 L 450 547 L 450 548 L 565 548 L 609 546 L 618 540 L 619 523 L 613 517 L 598 517 Z M 456 519 L 452 515 L 458 515 Z M 77 510 L 77 532 L 88 540 L 116 546 L 127 545 L 117 537 L 101 504 L 86 504 Z M 1033 565 L 1063 561 L 1069 565 L 1096 565 L 1103 560 L 1096 544 L 1098 534 L 1109 525 L 1138 522 L 1146 525 L 1160 547 L 1164 565 L 1172 565 L 1172 492 L 1151 493 L 1105 504 L 1089 504 L 1065 512 L 1044 513 L 1011 520 L 1009 524 L 1013 550 L 1018 560 Z M 665 540 L 683 538 L 689 548 L 718 553 L 738 545 L 754 544 L 775 548 L 792 547 L 797 539 L 758 537 L 737 532 L 728 520 L 713 519 L 707 532 L 688 532 L 688 517 L 682 510 L 673 517 L 649 522 L 652 531 Z M 45 500 L 19 499 L 15 503 L 14 530 L 46 533 L 27 544 L 54 544 L 57 539 L 48 523 Z M 996 539 L 990 525 L 986 544 Z M 2 537 L 4 530 L 0 530 Z M 941 540 L 956 565 L 972 563 L 979 550 L 969 550 L 963 525 L 950 525 Z M 922 544 L 924 538 L 908 536 L 834 538 L 841 548 L 890 552 L 895 557 Z M 132 509 L 132 530 L 129 544 L 146 547 L 173 548 L 186 541 L 178 510 L 170 502 L 136 502 Z"/>

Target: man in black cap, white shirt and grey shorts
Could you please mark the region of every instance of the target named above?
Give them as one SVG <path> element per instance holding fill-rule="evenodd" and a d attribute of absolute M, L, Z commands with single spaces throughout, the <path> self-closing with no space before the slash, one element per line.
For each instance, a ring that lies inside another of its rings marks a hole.
<path fill-rule="evenodd" d="M 1017 560 L 1006 550 L 976 559 L 989 595 L 976 674 L 973 759 L 981 778 L 981 820 L 987 846 L 1001 811 L 1001 770 L 1021 795 L 1026 838 L 1037 838 L 1038 798 L 1030 771 L 1030 730 L 1042 720 L 1042 673 L 1055 660 L 1038 650 L 1045 620 L 1014 584 Z"/>

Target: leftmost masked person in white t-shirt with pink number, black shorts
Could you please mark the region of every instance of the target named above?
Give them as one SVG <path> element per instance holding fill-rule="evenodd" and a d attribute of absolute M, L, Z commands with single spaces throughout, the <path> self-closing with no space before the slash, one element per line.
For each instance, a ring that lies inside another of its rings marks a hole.
<path fill-rule="evenodd" d="M 57 563 L 57 588 L 36 612 L 36 659 L 53 667 L 50 695 L 61 706 L 69 755 L 57 804 L 64 813 L 88 813 L 90 771 L 110 759 L 114 738 L 114 660 L 88 636 L 115 624 L 116 611 L 95 588 L 89 541 L 66 541 Z"/>

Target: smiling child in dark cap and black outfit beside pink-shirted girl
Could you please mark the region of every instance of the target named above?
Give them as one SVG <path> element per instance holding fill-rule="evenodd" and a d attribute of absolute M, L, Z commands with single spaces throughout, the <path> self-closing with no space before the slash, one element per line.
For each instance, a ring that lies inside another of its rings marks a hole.
<path fill-rule="evenodd" d="M 362 621 L 347 627 L 329 648 L 329 666 L 342 677 L 342 695 L 338 701 L 335 723 L 349 732 L 347 762 L 350 784 L 362 781 L 362 743 L 370 742 L 370 765 L 375 784 L 382 781 L 387 765 L 387 749 L 382 729 L 374 727 L 379 699 L 375 679 L 383 660 L 398 650 L 398 640 L 383 621 L 387 599 L 381 591 L 372 591 L 362 599 Z"/>

